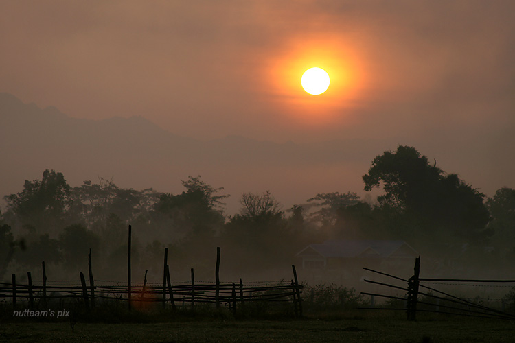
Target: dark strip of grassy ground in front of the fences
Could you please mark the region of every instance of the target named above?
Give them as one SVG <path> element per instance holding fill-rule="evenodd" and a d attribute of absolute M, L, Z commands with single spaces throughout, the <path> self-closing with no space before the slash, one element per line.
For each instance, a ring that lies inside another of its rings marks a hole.
<path fill-rule="evenodd" d="M 384 314 L 338 320 L 198 320 L 150 324 L 2 323 L 0 342 L 515 342 L 515 322 Z"/>

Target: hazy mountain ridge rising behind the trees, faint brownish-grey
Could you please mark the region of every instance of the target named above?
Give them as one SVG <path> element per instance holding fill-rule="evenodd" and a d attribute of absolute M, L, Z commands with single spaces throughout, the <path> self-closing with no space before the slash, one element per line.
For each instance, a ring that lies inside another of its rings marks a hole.
<path fill-rule="evenodd" d="M 172 193 L 183 191 L 181 179 L 200 174 L 205 182 L 225 187 L 231 194 L 227 201 L 230 213 L 238 211 L 238 199 L 247 191 L 270 190 L 289 207 L 321 192 L 363 194 L 361 176 L 371 161 L 398 144 L 413 144 L 423 154 L 431 158 L 435 154 L 439 162 L 450 161 L 454 167 L 456 158 L 449 154 L 452 149 L 445 140 L 419 145 L 402 139 L 299 144 L 233 135 L 201 141 L 163 130 L 144 117 L 77 119 L 55 107 L 38 108 L 0 93 L 0 196 L 21 191 L 24 180 L 41 178 L 45 169 L 61 171 L 72 186 L 112 177 L 119 187 L 153 187 Z M 474 158 L 467 161 L 488 156 L 488 150 L 479 151 L 479 147 L 472 147 Z M 459 170 L 447 165 L 442 169 L 458 174 L 470 169 L 470 164 L 461 165 Z M 503 169 L 506 175 L 513 170 L 513 163 L 507 168 Z"/>

